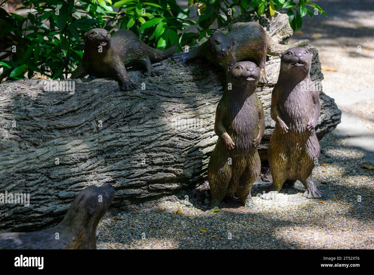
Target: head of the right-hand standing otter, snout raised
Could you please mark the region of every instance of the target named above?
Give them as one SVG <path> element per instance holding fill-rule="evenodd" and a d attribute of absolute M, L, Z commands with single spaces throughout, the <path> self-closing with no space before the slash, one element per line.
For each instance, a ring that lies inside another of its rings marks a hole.
<path fill-rule="evenodd" d="M 309 74 L 313 54 L 305 48 L 289 48 L 281 56 L 281 71 L 293 77 L 306 77 Z"/>

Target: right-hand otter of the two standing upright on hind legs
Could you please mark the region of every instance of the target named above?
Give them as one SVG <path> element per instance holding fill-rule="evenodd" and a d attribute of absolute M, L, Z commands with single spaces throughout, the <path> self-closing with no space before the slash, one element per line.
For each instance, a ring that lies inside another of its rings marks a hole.
<path fill-rule="evenodd" d="M 273 177 L 269 191 L 279 192 L 285 181 L 293 184 L 300 180 L 305 187 L 303 196 L 321 198 L 311 175 L 320 154 L 314 129 L 321 110 L 309 75 L 312 56 L 304 48 L 290 48 L 281 54 L 270 110 L 276 125 L 267 151 Z"/>

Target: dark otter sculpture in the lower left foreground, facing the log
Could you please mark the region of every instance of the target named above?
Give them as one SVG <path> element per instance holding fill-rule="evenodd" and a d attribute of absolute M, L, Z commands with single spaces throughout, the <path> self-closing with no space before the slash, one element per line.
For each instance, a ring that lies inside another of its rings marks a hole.
<path fill-rule="evenodd" d="M 0 234 L 0 249 L 96 249 L 96 226 L 114 195 L 111 184 L 87 187 L 74 199 L 61 223 L 36 232 Z"/>

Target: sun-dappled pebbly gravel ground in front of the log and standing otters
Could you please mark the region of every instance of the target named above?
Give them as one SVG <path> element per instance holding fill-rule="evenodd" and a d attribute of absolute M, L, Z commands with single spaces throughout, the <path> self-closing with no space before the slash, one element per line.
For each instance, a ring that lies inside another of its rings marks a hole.
<path fill-rule="evenodd" d="M 363 168 L 367 164 L 365 152 L 347 147 L 334 134 L 322 139 L 321 149 L 320 164 L 327 165 L 316 166 L 313 177 L 324 194 L 322 199 L 303 198 L 304 188 L 297 181 L 294 187 L 282 189 L 273 200 L 264 201 L 256 195 L 270 183 L 260 181 L 252 189 L 258 211 L 248 211 L 233 203 L 231 208 L 205 213 L 182 200 L 185 194 L 180 193 L 180 199 L 136 211 L 135 215 L 107 214 L 96 229 L 97 246 L 373 249 L 374 170 Z"/>

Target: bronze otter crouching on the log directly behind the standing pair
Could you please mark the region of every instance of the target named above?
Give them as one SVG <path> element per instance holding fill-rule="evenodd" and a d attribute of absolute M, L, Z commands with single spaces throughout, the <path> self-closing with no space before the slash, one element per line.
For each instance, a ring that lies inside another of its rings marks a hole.
<path fill-rule="evenodd" d="M 304 46 L 309 40 L 300 40 L 294 46 Z M 266 55 L 279 55 L 288 48 L 274 42 L 264 28 L 256 22 L 237 22 L 229 33 L 212 33 L 202 45 L 189 52 L 176 53 L 173 58 L 179 64 L 195 58 L 204 58 L 220 67 L 225 75 L 229 68 L 239 61 L 253 61 L 261 68 L 260 81 L 267 81 Z"/>

